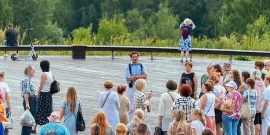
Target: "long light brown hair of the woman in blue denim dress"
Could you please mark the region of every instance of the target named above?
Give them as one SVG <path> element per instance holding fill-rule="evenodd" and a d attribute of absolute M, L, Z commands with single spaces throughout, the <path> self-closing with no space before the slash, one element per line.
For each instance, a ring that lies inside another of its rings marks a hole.
<path fill-rule="evenodd" d="M 66 96 L 64 97 L 67 100 L 67 106 L 70 106 L 70 111 L 75 113 L 76 110 L 76 101 L 78 100 L 77 92 L 74 86 L 70 86 L 67 90 Z"/>

